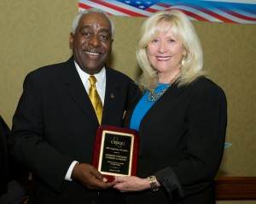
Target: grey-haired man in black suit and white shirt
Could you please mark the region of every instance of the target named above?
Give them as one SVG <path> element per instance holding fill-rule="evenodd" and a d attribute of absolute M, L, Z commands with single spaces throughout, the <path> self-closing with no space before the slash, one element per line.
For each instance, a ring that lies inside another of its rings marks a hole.
<path fill-rule="evenodd" d="M 31 203 L 121 203 L 121 195 L 91 165 L 100 126 L 88 96 L 90 82 L 103 104 L 102 124 L 123 126 L 136 86 L 105 63 L 114 27 L 98 9 L 73 21 L 73 57 L 26 76 L 15 111 L 10 143 L 15 157 L 32 172 Z"/>

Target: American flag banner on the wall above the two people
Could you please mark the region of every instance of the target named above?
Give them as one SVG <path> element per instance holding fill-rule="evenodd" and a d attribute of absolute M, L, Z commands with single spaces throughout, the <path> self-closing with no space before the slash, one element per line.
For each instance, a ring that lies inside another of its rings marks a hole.
<path fill-rule="evenodd" d="M 89 8 L 100 8 L 109 15 L 141 17 L 178 9 L 190 20 L 256 24 L 256 0 L 79 0 L 79 12 Z"/>

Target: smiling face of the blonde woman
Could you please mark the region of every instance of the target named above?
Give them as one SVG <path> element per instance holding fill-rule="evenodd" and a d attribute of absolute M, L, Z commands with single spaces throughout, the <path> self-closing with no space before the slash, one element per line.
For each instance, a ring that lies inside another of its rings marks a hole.
<path fill-rule="evenodd" d="M 158 74 L 171 76 L 178 73 L 183 55 L 186 54 L 183 44 L 172 36 L 171 29 L 167 33 L 154 37 L 148 43 L 147 51 L 149 62 Z"/>

